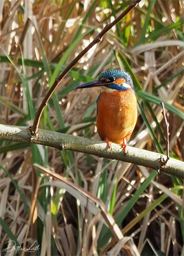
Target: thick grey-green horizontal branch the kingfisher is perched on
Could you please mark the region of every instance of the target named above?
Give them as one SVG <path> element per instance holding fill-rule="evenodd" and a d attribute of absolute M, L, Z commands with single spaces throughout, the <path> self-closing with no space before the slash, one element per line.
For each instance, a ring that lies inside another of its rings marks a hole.
<path fill-rule="evenodd" d="M 124 149 L 115 143 L 112 143 L 113 148 L 110 149 L 107 147 L 106 143 L 102 141 L 94 141 L 83 137 L 45 131 L 42 129 L 39 129 L 37 136 L 32 138 L 29 127 L 1 124 L 0 139 L 36 143 L 58 148 L 59 150 L 67 149 L 99 157 L 117 159 L 143 165 L 184 179 L 184 163 L 182 161 L 170 158 L 163 166 L 163 159 L 167 159 L 165 155 L 139 148 L 127 147 L 127 153 L 124 154 Z"/>

